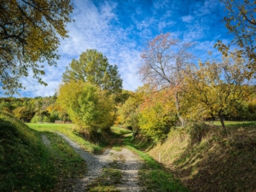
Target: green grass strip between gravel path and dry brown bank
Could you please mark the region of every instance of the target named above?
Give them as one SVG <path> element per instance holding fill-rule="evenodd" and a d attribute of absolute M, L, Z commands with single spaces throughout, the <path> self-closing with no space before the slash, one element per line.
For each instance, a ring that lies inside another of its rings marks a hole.
<path fill-rule="evenodd" d="M 148 154 L 139 150 L 138 145 L 131 143 L 131 135 L 125 137 L 124 145 L 137 153 L 143 160 L 144 164 L 139 172 L 139 183 L 147 188 L 147 191 L 189 191 L 172 176 L 171 172 L 168 172 Z"/>

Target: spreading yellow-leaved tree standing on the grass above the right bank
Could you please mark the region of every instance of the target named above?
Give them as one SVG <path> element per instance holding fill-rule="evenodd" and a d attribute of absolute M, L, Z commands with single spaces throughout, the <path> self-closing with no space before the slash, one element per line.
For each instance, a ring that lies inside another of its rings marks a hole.
<path fill-rule="evenodd" d="M 190 115 L 218 116 L 224 128 L 224 115 L 241 107 L 252 95 L 252 79 L 246 76 L 244 63 L 240 57 L 230 55 L 221 62 L 206 61 L 199 68 L 191 68 L 185 77 Z"/>

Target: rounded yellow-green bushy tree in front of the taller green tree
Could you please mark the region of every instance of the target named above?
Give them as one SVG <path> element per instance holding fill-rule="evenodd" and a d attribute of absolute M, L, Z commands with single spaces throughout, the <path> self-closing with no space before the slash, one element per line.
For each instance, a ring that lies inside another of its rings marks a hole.
<path fill-rule="evenodd" d="M 113 97 L 106 90 L 83 81 L 61 84 L 57 102 L 66 108 L 79 131 L 98 139 L 102 131 L 109 131 L 114 121 Z"/>

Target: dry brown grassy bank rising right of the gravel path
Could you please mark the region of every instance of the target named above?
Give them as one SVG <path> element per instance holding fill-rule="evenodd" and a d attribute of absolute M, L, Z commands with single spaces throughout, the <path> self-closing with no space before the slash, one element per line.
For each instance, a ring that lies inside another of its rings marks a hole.
<path fill-rule="evenodd" d="M 203 135 L 192 144 L 188 135 L 172 131 L 148 154 L 155 160 L 160 154 L 161 162 L 192 191 L 255 191 L 255 125 L 229 126 L 226 134 L 214 127 Z"/>

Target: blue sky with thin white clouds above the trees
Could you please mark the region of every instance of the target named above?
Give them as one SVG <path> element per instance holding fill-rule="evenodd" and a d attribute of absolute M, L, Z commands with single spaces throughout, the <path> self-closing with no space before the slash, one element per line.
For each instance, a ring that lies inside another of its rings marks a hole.
<path fill-rule="evenodd" d="M 38 84 L 32 75 L 20 79 L 26 90 L 20 96 L 52 96 L 61 83 L 65 67 L 78 59 L 86 49 L 97 49 L 119 67 L 125 90 L 136 90 L 142 82 L 137 67 L 140 53 L 149 40 L 161 32 L 171 32 L 182 42 L 194 42 L 191 50 L 204 60 L 207 51 L 219 57 L 213 45 L 218 39 L 232 38 L 221 21 L 227 13 L 219 0 L 74 0 L 73 23 L 67 25 L 69 38 L 61 39 L 58 67 L 45 66 L 43 79 L 48 86 Z M 0 96 L 3 90 L 0 90 Z"/>

